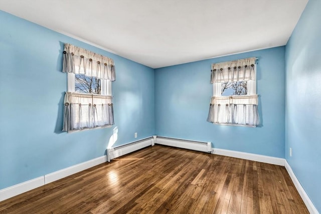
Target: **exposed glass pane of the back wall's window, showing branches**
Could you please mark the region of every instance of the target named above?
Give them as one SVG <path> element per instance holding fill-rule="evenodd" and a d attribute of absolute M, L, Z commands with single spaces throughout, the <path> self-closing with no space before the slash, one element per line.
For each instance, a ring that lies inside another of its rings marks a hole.
<path fill-rule="evenodd" d="M 247 95 L 247 81 L 224 82 L 221 87 L 222 96 Z"/>

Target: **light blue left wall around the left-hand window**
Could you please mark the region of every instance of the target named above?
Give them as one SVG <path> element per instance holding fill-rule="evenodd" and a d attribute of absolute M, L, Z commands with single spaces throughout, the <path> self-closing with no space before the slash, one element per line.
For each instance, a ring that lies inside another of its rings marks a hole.
<path fill-rule="evenodd" d="M 63 44 L 111 57 L 111 128 L 63 133 Z M 154 134 L 154 70 L 0 11 L 0 189 L 105 154 Z M 134 132 L 138 138 L 134 138 Z"/>

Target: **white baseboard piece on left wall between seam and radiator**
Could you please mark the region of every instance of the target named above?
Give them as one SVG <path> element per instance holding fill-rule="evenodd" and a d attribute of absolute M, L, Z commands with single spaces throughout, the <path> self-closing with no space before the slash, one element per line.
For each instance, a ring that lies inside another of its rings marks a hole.
<path fill-rule="evenodd" d="M 88 160 L 86 162 L 83 163 L 79 163 L 49 174 L 45 175 L 45 184 L 47 183 L 51 183 L 53 181 L 59 180 L 63 177 L 67 177 L 69 175 L 75 174 L 77 172 L 83 171 L 85 169 L 88 169 L 90 167 L 96 166 L 98 164 L 104 163 L 106 162 L 107 158 L 106 155 L 101 156 L 101 157 L 97 157 L 95 159 L 92 160 Z"/>

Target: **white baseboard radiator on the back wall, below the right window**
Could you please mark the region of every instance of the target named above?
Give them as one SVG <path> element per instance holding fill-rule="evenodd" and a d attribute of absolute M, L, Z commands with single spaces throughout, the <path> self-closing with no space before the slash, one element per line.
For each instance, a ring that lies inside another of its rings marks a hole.
<path fill-rule="evenodd" d="M 166 145 L 166 146 L 173 146 L 173 147 L 210 152 L 210 153 L 213 150 L 211 142 L 201 142 L 201 141 L 194 141 L 194 140 L 183 140 L 183 139 L 157 136 L 155 143 Z"/>

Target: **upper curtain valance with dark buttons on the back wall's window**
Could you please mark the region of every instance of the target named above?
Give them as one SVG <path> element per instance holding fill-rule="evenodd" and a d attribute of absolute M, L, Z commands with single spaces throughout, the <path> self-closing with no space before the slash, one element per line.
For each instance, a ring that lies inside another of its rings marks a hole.
<path fill-rule="evenodd" d="M 212 64 L 211 83 L 255 80 L 255 57 Z"/>

